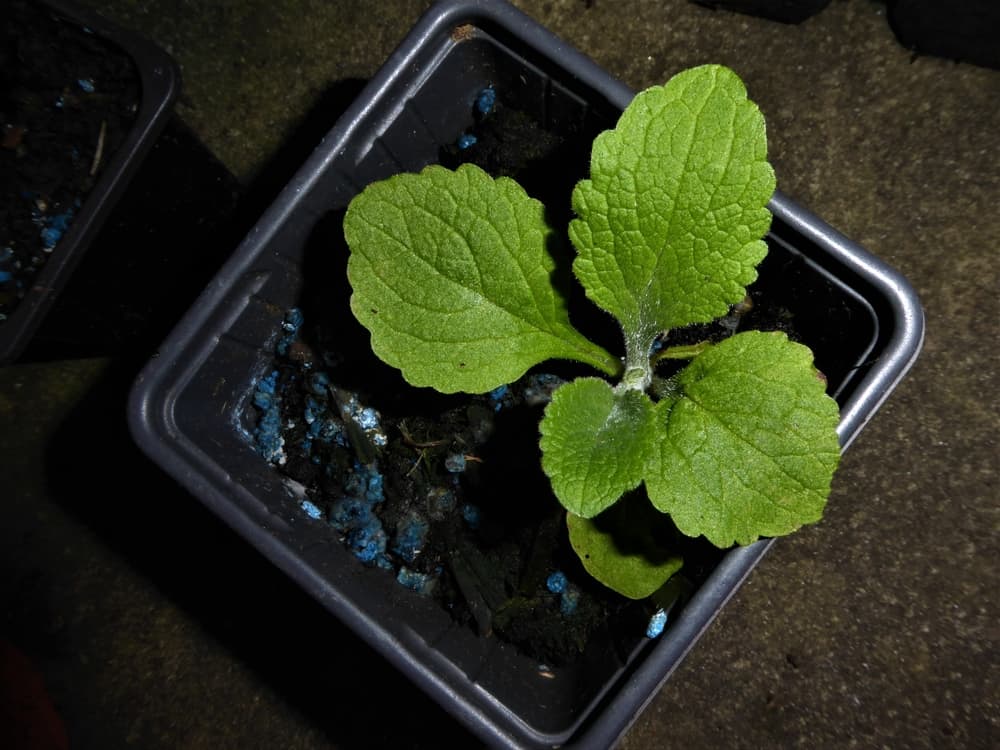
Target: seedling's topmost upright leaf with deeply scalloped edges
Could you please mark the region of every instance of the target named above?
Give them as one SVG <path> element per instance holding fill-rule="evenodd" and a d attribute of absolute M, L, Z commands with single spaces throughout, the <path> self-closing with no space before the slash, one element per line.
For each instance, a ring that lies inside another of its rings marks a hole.
<path fill-rule="evenodd" d="M 756 278 L 774 192 L 764 118 L 728 68 L 638 94 L 573 192 L 574 271 L 627 338 L 724 315 Z M 645 354 L 645 352 L 640 352 Z"/>

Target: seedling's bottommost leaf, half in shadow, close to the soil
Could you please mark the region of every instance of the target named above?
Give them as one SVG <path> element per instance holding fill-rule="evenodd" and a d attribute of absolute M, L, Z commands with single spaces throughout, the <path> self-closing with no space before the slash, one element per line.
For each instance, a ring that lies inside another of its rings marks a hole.
<path fill-rule="evenodd" d="M 644 497 L 624 498 L 596 518 L 566 514 L 570 545 L 583 567 L 630 599 L 654 593 L 684 564 L 655 533 L 664 523 Z"/>

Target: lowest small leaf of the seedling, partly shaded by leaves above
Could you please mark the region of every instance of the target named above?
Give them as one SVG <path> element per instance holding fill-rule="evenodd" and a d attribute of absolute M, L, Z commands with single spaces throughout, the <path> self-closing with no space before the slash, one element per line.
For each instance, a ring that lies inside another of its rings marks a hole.
<path fill-rule="evenodd" d="M 630 599 L 644 599 L 657 591 L 684 564 L 654 539 L 643 538 L 649 528 L 645 524 L 629 524 L 631 538 L 624 540 L 598 520 L 572 513 L 566 515 L 566 525 L 570 545 L 587 572 Z"/>

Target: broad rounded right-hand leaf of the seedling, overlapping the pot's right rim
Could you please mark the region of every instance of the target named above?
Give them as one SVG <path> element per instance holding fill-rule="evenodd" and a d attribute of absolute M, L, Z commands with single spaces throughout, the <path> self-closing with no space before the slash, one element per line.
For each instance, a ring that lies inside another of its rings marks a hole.
<path fill-rule="evenodd" d="M 748 331 L 698 355 L 656 405 L 653 505 L 719 547 L 818 521 L 840 459 L 837 403 L 812 352 Z"/>

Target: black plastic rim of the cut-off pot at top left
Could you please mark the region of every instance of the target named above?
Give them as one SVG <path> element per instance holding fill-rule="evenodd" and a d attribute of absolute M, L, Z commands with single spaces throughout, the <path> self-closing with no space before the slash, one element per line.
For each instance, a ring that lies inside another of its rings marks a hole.
<path fill-rule="evenodd" d="M 117 148 L 104 151 L 100 160 L 99 177 L 72 213 L 65 233 L 51 250 L 45 264 L 28 277 L 23 296 L 13 306 L 5 320 L 0 321 L 0 364 L 13 361 L 28 343 L 52 302 L 62 290 L 83 257 L 101 225 L 107 219 L 129 180 L 138 170 L 143 157 L 153 145 L 166 123 L 171 106 L 180 89 L 180 74 L 173 60 L 159 47 L 120 29 L 100 16 L 68 0 L 45 0 L 31 13 L 45 13 L 53 24 L 70 38 L 80 38 L 81 46 L 92 54 L 103 47 L 109 55 L 123 55 L 134 68 L 139 88 L 137 109 L 127 134 Z M 13 21 L 8 18 L 7 23 Z M 91 41 L 96 40 L 96 41 Z M 23 41 L 23 40 L 22 40 Z M 37 40 L 39 45 L 58 44 L 53 40 Z M 26 45 L 28 46 L 28 45 Z M 70 55 L 70 49 L 59 50 Z M 9 60 L 9 65 L 20 64 Z M 101 81 L 94 82 L 101 94 Z M 74 82 L 67 81 L 71 87 Z M 88 85 L 81 81 L 81 86 Z M 102 132 L 103 135 L 103 132 Z M 25 137 L 31 138 L 32 133 Z M 100 139 L 103 140 L 103 139 Z M 84 157 L 89 160 L 90 154 Z M 25 202 L 24 211 L 28 211 Z"/>

